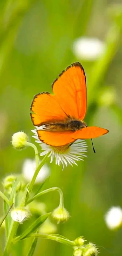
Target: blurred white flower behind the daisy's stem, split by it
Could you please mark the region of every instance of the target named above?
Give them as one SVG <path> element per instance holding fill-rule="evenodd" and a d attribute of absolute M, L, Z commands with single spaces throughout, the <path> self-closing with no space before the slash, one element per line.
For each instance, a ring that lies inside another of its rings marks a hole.
<path fill-rule="evenodd" d="M 22 167 L 22 173 L 23 173 L 24 179 L 30 182 L 34 175 L 35 169 L 36 169 L 35 160 L 26 159 Z M 41 167 L 41 170 L 39 171 L 36 177 L 35 183 L 42 183 L 49 176 L 50 176 L 50 169 L 47 164 L 44 164 Z"/>

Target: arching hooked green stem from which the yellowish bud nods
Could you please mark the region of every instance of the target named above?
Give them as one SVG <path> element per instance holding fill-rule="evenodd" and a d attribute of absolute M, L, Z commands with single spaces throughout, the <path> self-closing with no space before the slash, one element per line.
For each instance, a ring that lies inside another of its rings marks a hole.
<path fill-rule="evenodd" d="M 28 200 L 27 204 L 30 204 L 33 200 L 37 199 L 38 197 L 40 197 L 40 196 L 42 196 L 42 195 L 44 195 L 48 192 L 55 191 L 55 190 L 57 190 L 60 194 L 60 204 L 59 205 L 62 207 L 64 205 L 64 197 L 63 197 L 62 190 L 60 188 L 57 188 L 57 187 L 53 187 L 53 188 L 49 188 L 49 189 L 45 189 L 45 190 L 41 191 L 40 193 L 38 193 L 37 195 L 32 197 L 30 200 Z"/>

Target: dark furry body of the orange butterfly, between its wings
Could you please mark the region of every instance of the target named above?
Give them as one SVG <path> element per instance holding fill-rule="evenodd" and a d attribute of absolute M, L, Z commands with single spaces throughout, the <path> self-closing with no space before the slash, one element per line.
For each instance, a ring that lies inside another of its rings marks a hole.
<path fill-rule="evenodd" d="M 51 124 L 44 124 L 40 127 L 40 130 L 44 130 L 48 132 L 78 131 L 86 126 L 87 124 L 81 120 L 68 119 L 64 123 L 57 122 L 57 123 L 51 123 Z"/>

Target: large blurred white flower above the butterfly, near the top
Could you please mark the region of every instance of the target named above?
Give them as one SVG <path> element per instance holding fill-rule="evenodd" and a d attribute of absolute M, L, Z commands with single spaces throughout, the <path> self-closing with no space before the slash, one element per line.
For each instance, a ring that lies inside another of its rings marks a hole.
<path fill-rule="evenodd" d="M 80 37 L 73 42 L 72 50 L 77 59 L 95 60 L 105 50 L 105 43 L 98 38 Z"/>

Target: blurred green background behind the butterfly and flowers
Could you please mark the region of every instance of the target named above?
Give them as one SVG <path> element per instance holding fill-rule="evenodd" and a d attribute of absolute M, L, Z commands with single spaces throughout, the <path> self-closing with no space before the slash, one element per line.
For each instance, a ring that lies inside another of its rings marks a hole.
<path fill-rule="evenodd" d="M 99 58 L 76 57 L 73 42 L 81 36 L 105 43 Z M 34 142 L 29 115 L 33 96 L 51 92 L 54 79 L 75 61 L 81 62 L 87 77 L 85 121 L 110 132 L 94 139 L 96 154 L 91 141 L 87 142 L 88 157 L 78 167 L 62 171 L 54 162 L 50 164 L 51 177 L 45 188 L 62 189 L 64 206 L 71 215 L 68 222 L 58 225 L 57 233 L 70 240 L 83 235 L 98 246 L 101 256 L 120 256 L 122 230 L 109 230 L 104 215 L 113 205 L 122 207 L 121 1 L 0 1 L 0 177 L 2 180 L 10 173 L 21 173 L 24 160 L 34 157 L 31 148 L 14 150 L 11 137 L 22 130 Z M 59 197 L 52 192 L 41 200 L 51 211 L 58 206 Z M 2 208 L 0 211 L 2 215 Z M 3 228 L 0 235 L 3 243 Z M 21 242 L 15 255 L 26 255 L 26 246 Z M 38 239 L 34 255 L 70 256 L 72 249 Z"/>

